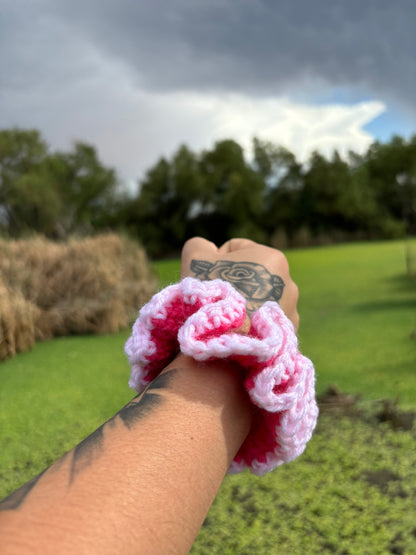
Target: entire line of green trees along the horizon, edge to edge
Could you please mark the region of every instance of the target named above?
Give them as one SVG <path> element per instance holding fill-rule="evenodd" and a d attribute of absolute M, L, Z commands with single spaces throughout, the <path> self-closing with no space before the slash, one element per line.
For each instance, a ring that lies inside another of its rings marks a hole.
<path fill-rule="evenodd" d="M 0 232 L 64 239 L 102 230 L 137 238 L 154 256 L 202 235 L 280 247 L 416 234 L 416 135 L 374 142 L 346 159 L 253 139 L 249 160 L 234 140 L 160 158 L 128 194 L 95 148 L 51 152 L 37 130 L 0 130 Z"/>

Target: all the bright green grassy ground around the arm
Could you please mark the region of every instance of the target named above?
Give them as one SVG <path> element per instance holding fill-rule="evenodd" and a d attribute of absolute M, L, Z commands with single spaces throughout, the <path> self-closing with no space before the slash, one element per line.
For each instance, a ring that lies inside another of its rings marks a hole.
<path fill-rule="evenodd" d="M 416 409 L 416 281 L 405 243 L 287 253 L 300 288 L 302 352 L 318 391 L 361 394 L 322 414 L 297 461 L 226 478 L 192 553 L 416 553 L 416 432 L 380 423 L 380 399 Z M 175 282 L 177 261 L 157 264 Z M 0 498 L 70 449 L 131 397 L 128 332 L 36 345 L 0 365 Z"/>

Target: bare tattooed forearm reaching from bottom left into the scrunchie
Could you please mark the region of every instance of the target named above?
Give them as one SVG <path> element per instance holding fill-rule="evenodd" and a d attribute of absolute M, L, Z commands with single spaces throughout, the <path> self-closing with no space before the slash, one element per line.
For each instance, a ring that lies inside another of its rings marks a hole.
<path fill-rule="evenodd" d="M 179 356 L 3 503 L 3 552 L 186 553 L 249 427 L 239 369 Z"/>

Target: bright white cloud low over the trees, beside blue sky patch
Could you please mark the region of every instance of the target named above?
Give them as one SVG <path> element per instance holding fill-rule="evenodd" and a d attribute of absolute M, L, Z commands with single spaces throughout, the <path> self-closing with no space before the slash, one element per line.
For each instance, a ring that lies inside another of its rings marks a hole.
<path fill-rule="evenodd" d="M 385 110 L 379 101 L 314 106 L 284 97 L 259 99 L 237 94 L 183 94 L 179 100 L 188 125 L 195 114 L 205 114 L 204 119 L 210 122 L 205 137 L 199 136 L 200 144 L 201 140 L 206 144 L 207 140 L 231 137 L 249 150 L 257 136 L 285 146 L 301 161 L 313 150 L 328 156 L 334 149 L 342 155 L 349 150 L 363 152 L 373 140 L 363 127 Z M 192 114 L 189 118 L 188 111 Z"/>

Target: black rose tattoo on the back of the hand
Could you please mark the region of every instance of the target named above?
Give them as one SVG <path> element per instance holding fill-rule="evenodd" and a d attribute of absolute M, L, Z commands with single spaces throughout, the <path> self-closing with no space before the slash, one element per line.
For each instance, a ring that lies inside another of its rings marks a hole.
<path fill-rule="evenodd" d="M 285 286 L 280 276 L 271 274 L 267 268 L 254 262 L 192 260 L 191 271 L 201 280 L 219 278 L 231 283 L 247 299 L 249 313 L 266 301 L 277 302 Z"/>

